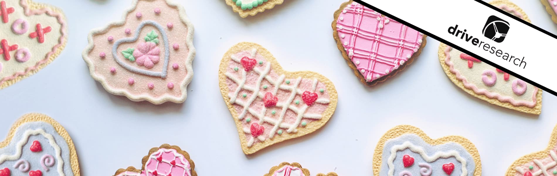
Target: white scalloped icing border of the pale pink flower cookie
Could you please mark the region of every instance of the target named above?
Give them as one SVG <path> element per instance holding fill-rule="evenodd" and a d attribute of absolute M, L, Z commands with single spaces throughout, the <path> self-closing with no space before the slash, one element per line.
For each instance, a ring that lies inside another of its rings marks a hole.
<path fill-rule="evenodd" d="M 135 8 L 137 7 L 138 1 L 165 1 L 168 4 L 168 6 L 178 9 L 180 19 L 182 20 L 182 22 L 184 23 L 185 26 L 188 26 L 188 34 L 186 36 L 186 42 L 185 42 L 186 46 L 189 49 L 188 58 L 186 58 L 186 60 L 185 60 L 185 69 L 186 69 L 188 74 L 185 77 L 184 81 L 180 84 L 180 87 L 182 88 L 182 97 L 180 97 L 180 98 L 175 98 L 175 97 L 172 97 L 172 96 L 163 95 L 163 96 L 161 96 L 157 99 L 154 99 L 153 97 L 146 96 L 146 95 L 139 95 L 139 96 L 131 95 L 126 90 L 111 89 L 108 85 L 106 85 L 106 81 L 102 77 L 97 76 L 95 74 L 95 65 L 90 61 L 90 58 L 87 57 L 87 54 L 94 47 L 93 35 L 106 33 L 106 32 L 108 32 L 109 28 L 111 28 L 113 26 L 124 25 L 126 23 L 126 17 L 128 16 L 129 13 L 131 13 L 132 11 L 135 10 Z M 180 6 L 179 4 L 174 3 L 172 0 L 134 0 L 131 3 L 131 5 L 132 6 L 127 11 L 125 11 L 125 13 L 123 14 L 121 21 L 111 22 L 111 23 L 109 23 L 109 25 L 107 25 L 105 27 L 95 28 L 95 29 L 91 30 L 89 35 L 87 35 L 87 41 L 89 42 L 89 44 L 85 48 L 85 51 L 83 51 L 82 57 L 83 57 L 83 60 L 85 60 L 85 62 L 87 62 L 87 65 L 89 66 L 89 72 L 90 72 L 91 76 L 96 81 L 99 81 L 102 84 L 102 87 L 104 87 L 104 89 L 106 91 L 108 91 L 108 92 L 110 92 L 111 94 L 114 94 L 114 95 L 126 96 L 126 97 L 128 97 L 128 99 L 130 99 L 132 101 L 145 101 L 146 100 L 146 101 L 152 102 L 153 104 L 157 104 L 157 105 L 158 104 L 163 104 L 164 102 L 167 102 L 167 101 L 172 101 L 172 102 L 175 102 L 175 103 L 184 102 L 185 99 L 187 99 L 187 96 L 188 96 L 187 87 L 188 87 L 189 83 L 192 82 L 192 79 L 193 79 L 192 62 L 193 62 L 193 58 L 196 56 L 196 49 L 193 47 L 193 31 L 194 31 L 194 28 L 193 28 L 192 23 L 189 21 L 188 17 L 185 14 L 185 9 L 182 6 Z"/>

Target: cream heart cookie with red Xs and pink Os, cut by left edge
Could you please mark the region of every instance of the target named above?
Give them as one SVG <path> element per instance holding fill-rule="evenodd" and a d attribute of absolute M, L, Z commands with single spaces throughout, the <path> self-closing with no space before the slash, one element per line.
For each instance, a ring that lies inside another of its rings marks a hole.
<path fill-rule="evenodd" d="M 35 74 L 66 46 L 66 19 L 56 7 L 1 0 L 0 18 L 0 89 Z"/>

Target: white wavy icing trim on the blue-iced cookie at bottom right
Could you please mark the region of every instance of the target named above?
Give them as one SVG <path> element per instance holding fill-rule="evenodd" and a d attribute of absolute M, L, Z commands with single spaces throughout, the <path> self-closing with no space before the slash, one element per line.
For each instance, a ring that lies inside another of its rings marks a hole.
<path fill-rule="evenodd" d="M 466 169 L 466 159 L 462 158 L 460 156 L 460 154 L 458 154 L 458 151 L 456 150 L 452 150 L 452 151 L 437 151 L 435 154 L 433 154 L 433 156 L 428 156 L 426 154 L 426 151 L 421 147 L 421 146 L 416 146 L 414 144 L 412 144 L 410 141 L 405 141 L 402 145 L 394 145 L 392 148 L 390 148 L 390 157 L 389 160 L 387 162 L 387 165 L 389 166 L 389 176 L 393 176 L 394 174 L 394 158 L 397 157 L 397 151 L 402 151 L 405 149 L 410 149 L 411 151 L 413 151 L 414 153 L 419 154 L 426 162 L 428 163 L 432 163 L 435 162 L 437 159 L 439 158 L 451 158 L 451 157 L 455 157 L 455 159 L 461 163 L 462 165 L 462 176 L 466 176 L 468 175 L 468 170 Z"/>

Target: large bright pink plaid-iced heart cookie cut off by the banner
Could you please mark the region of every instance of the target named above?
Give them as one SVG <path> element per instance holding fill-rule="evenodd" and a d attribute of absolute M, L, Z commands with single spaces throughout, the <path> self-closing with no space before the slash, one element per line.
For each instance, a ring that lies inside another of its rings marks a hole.
<path fill-rule="evenodd" d="M 343 57 L 368 86 L 385 81 L 412 63 L 426 36 L 354 1 L 334 14 L 333 36 Z"/>

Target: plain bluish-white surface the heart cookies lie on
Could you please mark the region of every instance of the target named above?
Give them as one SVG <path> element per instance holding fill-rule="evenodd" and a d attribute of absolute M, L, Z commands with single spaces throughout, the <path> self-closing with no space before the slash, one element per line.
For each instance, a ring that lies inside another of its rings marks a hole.
<path fill-rule="evenodd" d="M 432 38 L 422 55 L 397 76 L 364 86 L 333 39 L 333 13 L 344 0 L 287 0 L 248 18 L 223 1 L 182 0 L 196 28 L 195 76 L 188 99 L 183 104 L 133 102 L 106 92 L 81 58 L 87 33 L 119 20 L 131 1 L 39 2 L 63 9 L 69 41 L 38 74 L 0 90 L 0 136 L 23 114 L 52 116 L 74 140 L 81 174 L 86 176 L 140 168 L 149 149 L 164 143 L 188 151 L 199 175 L 263 175 L 281 162 L 299 162 L 311 175 L 336 169 L 340 175 L 371 176 L 377 141 L 402 124 L 418 126 L 432 138 L 465 136 L 480 151 L 483 175 L 504 175 L 515 159 L 544 149 L 557 124 L 557 98 L 546 92 L 537 116 L 488 104 L 453 85 L 439 65 L 439 42 Z M 515 3 L 532 23 L 557 33 L 539 1 Z M 244 155 L 217 78 L 224 52 L 241 41 L 266 47 L 286 70 L 316 71 L 333 81 L 339 102 L 329 123 L 314 134 Z"/>

